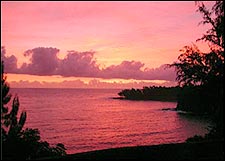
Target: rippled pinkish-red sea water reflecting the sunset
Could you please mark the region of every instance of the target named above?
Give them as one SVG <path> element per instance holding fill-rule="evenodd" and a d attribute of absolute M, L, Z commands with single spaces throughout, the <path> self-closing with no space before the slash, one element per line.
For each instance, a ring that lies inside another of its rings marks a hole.
<path fill-rule="evenodd" d="M 118 89 L 11 89 L 25 127 L 38 128 L 41 139 L 63 143 L 67 153 L 136 145 L 183 142 L 204 135 L 206 119 L 165 111 L 174 102 L 112 99 Z"/>

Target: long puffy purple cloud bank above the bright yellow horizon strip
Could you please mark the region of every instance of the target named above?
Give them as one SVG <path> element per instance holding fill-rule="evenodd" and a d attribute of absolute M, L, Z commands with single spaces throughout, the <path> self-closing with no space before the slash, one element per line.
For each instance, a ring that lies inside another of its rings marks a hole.
<path fill-rule="evenodd" d="M 118 65 L 100 68 L 94 58 L 94 51 L 68 51 L 63 59 L 57 54 L 59 49 L 52 47 L 38 47 L 24 52 L 24 56 L 30 56 L 30 63 L 23 63 L 17 67 L 17 58 L 12 55 L 7 57 L 5 48 L 1 49 L 2 60 L 6 73 L 31 74 L 39 76 L 61 75 L 63 77 L 94 77 L 105 79 L 136 79 L 136 80 L 167 80 L 175 81 L 173 68 L 161 65 L 158 68 L 144 68 L 140 61 L 123 61 Z"/>

